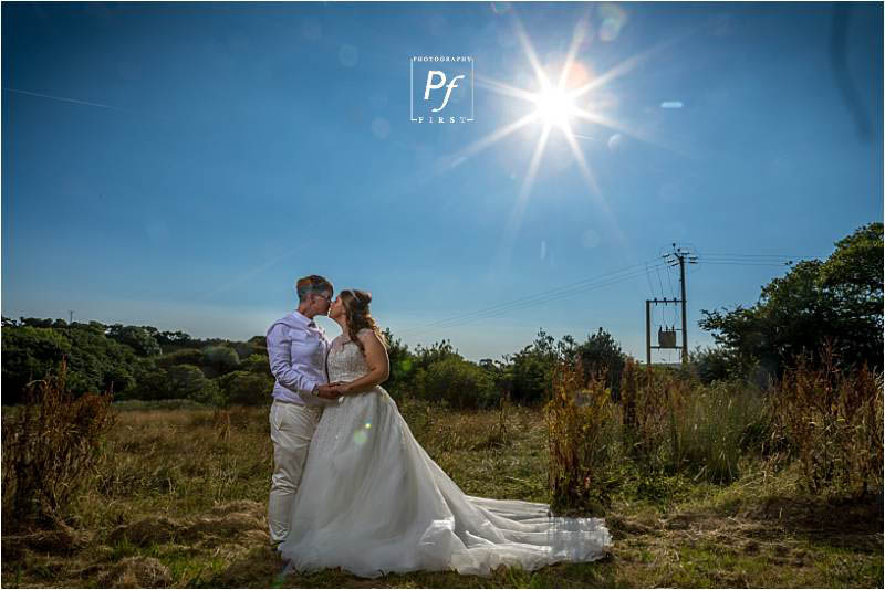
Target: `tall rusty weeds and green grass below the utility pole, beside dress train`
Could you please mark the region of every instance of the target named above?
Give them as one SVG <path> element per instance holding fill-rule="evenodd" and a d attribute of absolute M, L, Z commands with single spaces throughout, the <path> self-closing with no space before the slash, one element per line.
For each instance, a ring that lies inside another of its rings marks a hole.
<path fill-rule="evenodd" d="M 558 368 L 552 390 L 550 489 L 560 507 L 598 510 L 625 487 L 673 499 L 667 477 L 727 484 L 740 477 L 748 447 L 761 450 L 762 392 L 736 382 L 702 386 L 628 360 L 621 403 L 604 375 L 584 382 L 569 366 Z"/>

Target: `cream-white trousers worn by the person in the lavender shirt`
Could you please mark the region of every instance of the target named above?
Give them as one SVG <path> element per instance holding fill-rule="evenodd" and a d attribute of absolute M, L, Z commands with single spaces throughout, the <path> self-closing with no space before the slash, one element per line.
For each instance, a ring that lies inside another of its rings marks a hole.
<path fill-rule="evenodd" d="M 319 405 L 296 405 L 274 401 L 270 407 L 270 439 L 273 441 L 273 477 L 268 502 L 271 542 L 285 540 L 289 517 L 295 499 L 301 473 L 308 460 L 308 447 L 320 421 Z"/>

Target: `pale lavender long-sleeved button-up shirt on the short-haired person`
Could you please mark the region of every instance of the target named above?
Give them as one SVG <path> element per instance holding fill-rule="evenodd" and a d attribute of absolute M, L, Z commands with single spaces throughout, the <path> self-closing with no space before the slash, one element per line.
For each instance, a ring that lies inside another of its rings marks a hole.
<path fill-rule="evenodd" d="M 329 339 L 323 328 L 298 310 L 268 328 L 268 358 L 277 382 L 274 399 L 298 404 L 323 405 L 316 388 L 329 382 L 325 356 Z"/>

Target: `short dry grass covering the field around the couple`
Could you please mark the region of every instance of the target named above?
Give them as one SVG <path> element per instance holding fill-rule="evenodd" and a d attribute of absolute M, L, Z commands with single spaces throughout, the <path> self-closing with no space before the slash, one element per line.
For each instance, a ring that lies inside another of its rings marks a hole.
<path fill-rule="evenodd" d="M 540 409 L 400 410 L 466 493 L 549 499 Z M 803 495 L 791 467 L 748 464 L 728 486 L 625 477 L 611 506 L 593 515 L 614 537 L 596 562 L 365 580 L 280 573 L 266 519 L 267 409 L 119 405 L 102 453 L 67 526 L 8 535 L 4 524 L 3 587 L 883 587 L 882 496 Z"/>

